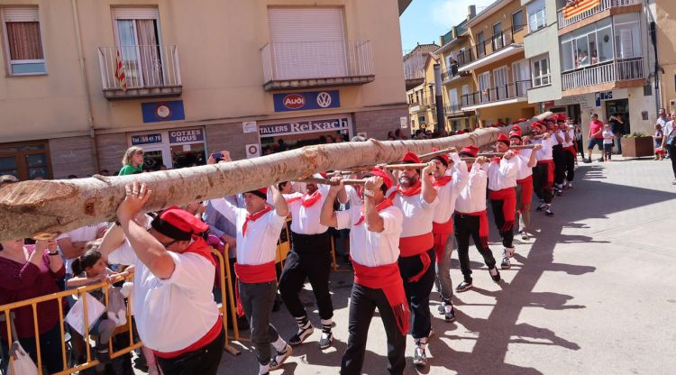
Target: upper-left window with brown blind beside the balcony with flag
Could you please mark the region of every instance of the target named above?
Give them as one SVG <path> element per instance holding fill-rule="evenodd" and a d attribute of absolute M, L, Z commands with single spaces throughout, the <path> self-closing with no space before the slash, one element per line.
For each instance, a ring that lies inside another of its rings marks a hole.
<path fill-rule="evenodd" d="M 9 74 L 46 73 L 38 8 L 5 8 L 2 19 Z"/>

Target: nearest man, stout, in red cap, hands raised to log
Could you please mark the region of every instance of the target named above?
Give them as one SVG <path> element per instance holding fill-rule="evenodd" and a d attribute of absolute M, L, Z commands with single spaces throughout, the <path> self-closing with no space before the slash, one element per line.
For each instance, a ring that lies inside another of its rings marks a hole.
<path fill-rule="evenodd" d="M 133 311 L 143 345 L 158 356 L 164 374 L 215 375 L 225 332 L 211 291 L 215 261 L 203 239 L 209 226 L 171 206 L 146 229 L 150 216 L 139 213 L 151 190 L 136 181 L 125 189 L 119 225 L 105 234 L 100 250 L 112 263 L 135 266 Z"/>

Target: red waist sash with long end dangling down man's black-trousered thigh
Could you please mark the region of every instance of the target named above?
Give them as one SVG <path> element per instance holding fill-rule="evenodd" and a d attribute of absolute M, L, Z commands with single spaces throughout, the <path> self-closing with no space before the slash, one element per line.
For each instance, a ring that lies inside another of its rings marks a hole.
<path fill-rule="evenodd" d="M 397 327 L 402 335 L 408 333 L 411 311 L 408 309 L 407 296 L 404 292 L 404 281 L 399 273 L 397 263 L 378 267 L 363 266 L 352 261 L 354 282 L 371 289 L 382 289 L 392 307 Z"/>

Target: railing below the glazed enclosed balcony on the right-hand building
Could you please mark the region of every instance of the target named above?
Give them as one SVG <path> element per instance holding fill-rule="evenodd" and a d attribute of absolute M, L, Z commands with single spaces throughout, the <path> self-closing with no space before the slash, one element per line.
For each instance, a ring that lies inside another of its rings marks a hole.
<path fill-rule="evenodd" d="M 644 78 L 644 59 L 618 59 L 562 74 L 564 90 L 597 86 L 604 83 Z"/>

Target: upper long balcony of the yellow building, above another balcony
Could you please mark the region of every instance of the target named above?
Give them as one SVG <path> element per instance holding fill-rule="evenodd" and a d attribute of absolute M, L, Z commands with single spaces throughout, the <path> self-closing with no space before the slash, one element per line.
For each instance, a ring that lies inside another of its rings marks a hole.
<path fill-rule="evenodd" d="M 523 32 L 524 30 L 524 28 L 520 28 L 516 32 Z M 510 28 L 507 31 L 498 32 L 486 41 L 480 41 L 470 50 L 462 50 L 461 57 L 465 63 L 461 64 L 460 71 L 481 68 L 523 51 L 524 44 L 515 42 L 514 33 L 515 31 Z"/>

